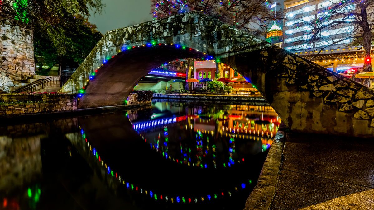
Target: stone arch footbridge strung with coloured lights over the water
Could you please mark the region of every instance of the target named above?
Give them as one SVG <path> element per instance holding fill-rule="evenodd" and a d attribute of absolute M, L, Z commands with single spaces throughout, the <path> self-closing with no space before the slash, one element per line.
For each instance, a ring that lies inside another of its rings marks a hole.
<path fill-rule="evenodd" d="M 78 107 L 119 105 L 153 68 L 216 59 L 248 78 L 290 129 L 373 138 L 374 92 L 199 12 L 108 31 L 62 93 Z"/>

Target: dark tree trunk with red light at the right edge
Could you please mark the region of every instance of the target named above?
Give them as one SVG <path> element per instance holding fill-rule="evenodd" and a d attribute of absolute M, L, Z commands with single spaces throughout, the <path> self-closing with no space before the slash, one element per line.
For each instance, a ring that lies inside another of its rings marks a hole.
<path fill-rule="evenodd" d="M 373 71 L 371 67 L 371 31 L 370 26 L 368 23 L 368 17 L 367 17 L 367 8 L 368 3 L 360 4 L 361 7 L 361 28 L 362 28 L 362 38 L 364 43 L 362 43 L 362 47 L 364 48 L 364 69 L 363 72 L 367 71 Z M 370 63 L 366 61 L 367 58 L 370 58 Z"/>

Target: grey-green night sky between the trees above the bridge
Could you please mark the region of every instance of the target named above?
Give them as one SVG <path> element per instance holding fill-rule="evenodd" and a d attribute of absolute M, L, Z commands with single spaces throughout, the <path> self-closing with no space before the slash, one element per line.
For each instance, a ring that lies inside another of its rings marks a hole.
<path fill-rule="evenodd" d="M 102 13 L 89 18 L 102 34 L 152 20 L 150 0 L 102 0 L 102 3 L 106 5 Z"/>

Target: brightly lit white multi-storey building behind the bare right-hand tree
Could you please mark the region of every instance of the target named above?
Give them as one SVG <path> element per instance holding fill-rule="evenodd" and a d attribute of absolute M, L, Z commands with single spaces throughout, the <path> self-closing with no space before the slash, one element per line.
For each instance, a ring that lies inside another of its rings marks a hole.
<path fill-rule="evenodd" d="M 319 40 L 314 43 L 308 43 L 308 39 L 312 37 L 313 26 L 327 25 L 332 20 L 325 22 L 325 16 L 331 15 L 329 10 L 331 7 L 339 3 L 339 0 L 286 0 L 284 2 L 285 21 L 283 24 L 283 48 L 291 52 L 300 52 L 305 50 L 313 50 L 322 47 L 327 49 L 337 49 L 344 47 L 344 44 L 352 40 L 341 40 L 347 37 L 347 33 L 352 33 L 354 27 L 352 24 L 340 24 L 337 28 L 335 25 L 327 27 L 319 32 Z M 345 11 L 355 10 L 355 4 L 351 4 L 343 8 Z M 334 19 L 337 20 L 337 19 Z"/>

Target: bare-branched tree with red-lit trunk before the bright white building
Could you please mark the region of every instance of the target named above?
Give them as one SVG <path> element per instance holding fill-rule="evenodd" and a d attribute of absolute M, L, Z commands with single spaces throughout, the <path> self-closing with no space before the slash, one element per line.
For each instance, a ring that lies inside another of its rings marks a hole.
<path fill-rule="evenodd" d="M 333 44 L 362 45 L 364 72 L 372 71 L 371 43 L 374 25 L 374 0 L 331 0 L 322 5 L 316 18 L 299 16 L 299 27 L 308 27 L 297 40 L 309 48 L 323 50 Z M 328 4 L 326 4 L 328 5 Z"/>

